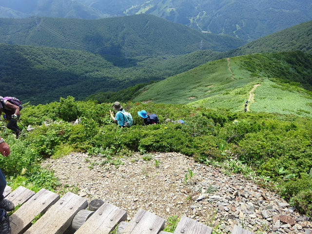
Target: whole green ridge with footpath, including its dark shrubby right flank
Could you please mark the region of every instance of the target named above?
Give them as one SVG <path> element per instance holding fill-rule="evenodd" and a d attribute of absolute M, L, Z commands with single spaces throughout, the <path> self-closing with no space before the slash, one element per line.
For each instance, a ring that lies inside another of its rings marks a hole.
<path fill-rule="evenodd" d="M 312 96 L 306 90 L 312 90 L 311 66 L 312 55 L 303 52 L 219 59 L 148 85 L 134 101 L 243 111 L 249 100 L 250 111 L 270 109 L 312 117 Z"/>

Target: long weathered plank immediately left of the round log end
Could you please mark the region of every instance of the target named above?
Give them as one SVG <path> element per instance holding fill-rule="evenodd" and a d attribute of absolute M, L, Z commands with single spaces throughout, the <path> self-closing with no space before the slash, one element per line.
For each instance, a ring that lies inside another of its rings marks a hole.
<path fill-rule="evenodd" d="M 62 234 L 78 211 L 88 207 L 86 198 L 68 192 L 62 196 L 25 234 Z"/>

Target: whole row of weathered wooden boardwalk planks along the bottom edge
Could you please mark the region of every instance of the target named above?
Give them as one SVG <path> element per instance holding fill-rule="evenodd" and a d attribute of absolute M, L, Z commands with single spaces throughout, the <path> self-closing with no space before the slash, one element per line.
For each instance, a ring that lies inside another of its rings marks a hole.
<path fill-rule="evenodd" d="M 22 204 L 11 215 L 12 234 L 63 234 L 73 224 L 74 217 L 79 216 L 79 211 L 83 215 L 77 228 L 71 230 L 78 229 L 75 234 L 109 234 L 116 226 L 117 234 L 172 234 L 162 231 L 165 219 L 143 209 L 139 209 L 130 222 L 125 222 L 127 213 L 118 207 L 104 202 L 96 212 L 90 212 L 84 210 L 88 207 L 87 199 L 71 192 L 59 198 L 45 189 L 37 194 L 22 186 L 11 191 L 6 186 L 5 198 L 15 205 Z M 43 214 L 42 217 L 31 226 L 31 221 L 39 214 Z M 211 234 L 212 231 L 211 227 L 183 215 L 173 234 Z M 232 234 L 254 233 L 235 225 Z"/>

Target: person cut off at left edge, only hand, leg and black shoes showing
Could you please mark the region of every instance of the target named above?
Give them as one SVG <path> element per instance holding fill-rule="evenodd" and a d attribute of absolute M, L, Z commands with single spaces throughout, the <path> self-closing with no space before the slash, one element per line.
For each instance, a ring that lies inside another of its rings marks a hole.
<path fill-rule="evenodd" d="M 9 156 L 11 151 L 9 145 L 4 141 L 2 137 L 0 137 L 0 153 L 2 156 Z M 3 193 L 6 187 L 6 178 L 3 174 L 2 170 L 0 169 L 0 232 L 1 234 L 10 234 L 11 227 L 10 227 L 10 219 L 7 211 L 14 210 L 14 204 L 4 199 Z"/>

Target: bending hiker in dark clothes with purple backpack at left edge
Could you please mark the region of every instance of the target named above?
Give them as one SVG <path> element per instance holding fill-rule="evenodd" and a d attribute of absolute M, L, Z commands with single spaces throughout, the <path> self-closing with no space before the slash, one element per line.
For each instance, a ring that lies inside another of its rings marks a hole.
<path fill-rule="evenodd" d="M 20 119 L 21 106 L 20 100 L 14 97 L 2 97 L 0 96 L 0 116 L 2 111 L 5 113 L 3 118 L 8 121 L 6 127 L 15 132 L 18 139 L 21 134 L 21 129 L 18 126 L 18 120 Z"/>

